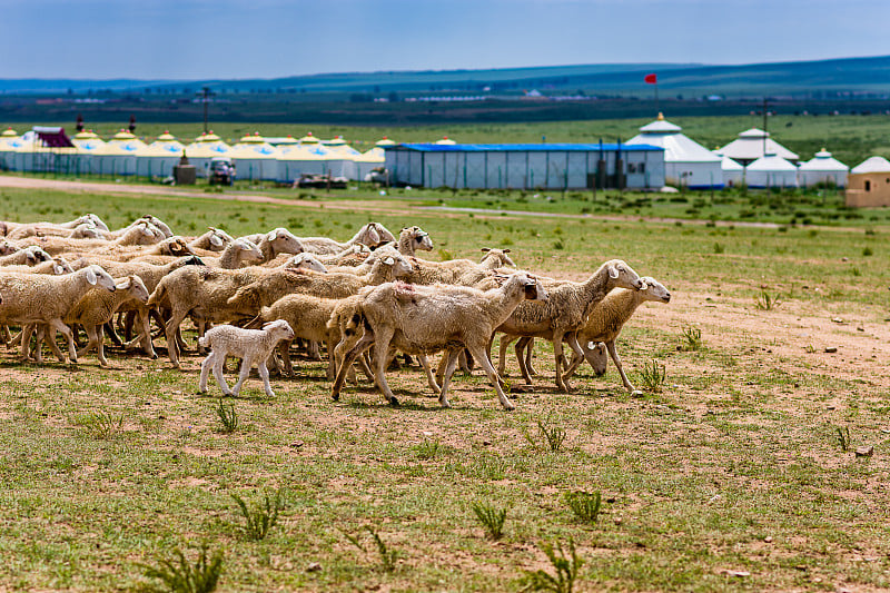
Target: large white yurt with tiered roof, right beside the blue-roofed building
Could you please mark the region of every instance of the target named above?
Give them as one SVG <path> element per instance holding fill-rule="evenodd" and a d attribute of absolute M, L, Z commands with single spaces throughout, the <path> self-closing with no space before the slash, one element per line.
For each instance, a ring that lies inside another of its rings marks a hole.
<path fill-rule="evenodd" d="M 625 145 L 650 145 L 664 148 L 664 180 L 669 186 L 690 189 L 723 187 L 721 158 L 681 134 L 682 128 L 659 118 L 640 128 L 640 134 Z"/>

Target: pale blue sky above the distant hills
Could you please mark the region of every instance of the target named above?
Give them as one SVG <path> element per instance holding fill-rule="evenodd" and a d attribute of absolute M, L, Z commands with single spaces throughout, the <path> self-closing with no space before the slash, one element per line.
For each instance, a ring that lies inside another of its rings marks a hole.
<path fill-rule="evenodd" d="M 0 78 L 890 55 L 890 0 L 0 0 Z"/>

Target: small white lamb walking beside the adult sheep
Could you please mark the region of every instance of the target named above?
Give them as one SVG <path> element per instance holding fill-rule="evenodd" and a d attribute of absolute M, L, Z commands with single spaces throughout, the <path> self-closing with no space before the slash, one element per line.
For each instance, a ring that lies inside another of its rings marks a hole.
<path fill-rule="evenodd" d="M 280 340 L 293 338 L 294 330 L 284 319 L 266 324 L 263 329 L 244 329 L 231 325 L 219 325 L 209 329 L 204 337 L 198 339 L 200 346 L 211 349 L 210 354 L 201 363 L 201 378 L 198 384 L 198 391 L 207 393 L 207 378 L 212 366 L 214 376 L 219 383 L 222 394 L 237 396 L 241 385 L 247 379 L 247 375 L 250 374 L 250 367 L 256 363 L 266 395 L 275 397 L 275 392 L 271 391 L 269 385 L 269 372 L 266 368 L 266 360 Z M 226 356 L 235 356 L 241 359 L 241 372 L 238 375 L 238 382 L 231 389 L 229 389 L 226 379 L 222 377 Z"/>

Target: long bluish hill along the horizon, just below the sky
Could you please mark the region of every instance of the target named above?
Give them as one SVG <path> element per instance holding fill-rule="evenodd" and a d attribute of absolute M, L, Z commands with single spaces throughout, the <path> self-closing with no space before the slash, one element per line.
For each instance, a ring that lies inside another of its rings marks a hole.
<path fill-rule="evenodd" d="M 488 70 L 344 72 L 237 80 L 41 80 L 0 79 L 2 93 L 140 92 L 191 93 L 208 86 L 220 93 L 388 93 L 472 92 L 650 95 L 643 73 L 656 72 L 671 93 L 755 97 L 769 95 L 887 93 L 890 56 L 815 61 L 708 66 L 689 63 L 605 63 Z"/>

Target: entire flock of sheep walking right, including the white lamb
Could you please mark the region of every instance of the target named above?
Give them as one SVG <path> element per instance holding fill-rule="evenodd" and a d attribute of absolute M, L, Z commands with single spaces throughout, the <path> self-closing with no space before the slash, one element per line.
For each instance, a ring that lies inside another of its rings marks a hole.
<path fill-rule="evenodd" d="M 531 385 L 534 338 L 553 343 L 560 391 L 571 389 L 584 360 L 603 374 L 607 356 L 633 391 L 615 338 L 641 303 L 670 300 L 657 280 L 617 259 L 583 283 L 516 269 L 508 249 L 483 249 L 479 263 L 423 259 L 417 251 L 432 250 L 433 241 L 416 226 L 395 237 L 369 223 L 346 243 L 296 237 L 285 228 L 236 239 L 212 227 L 199 237 L 177 236 L 154 216 L 109 230 L 86 215 L 65 224 L 0 221 L 0 325 L 7 347 L 18 346 L 22 360 L 42 363 L 46 345 L 65 362 L 57 330 L 70 363 L 96 349 L 107 366 L 106 337 L 157 358 L 154 319 L 179 367 L 188 318 L 198 332 L 198 354 L 211 350 L 199 389 L 206 391 L 212 369 L 227 395 L 238 393 L 256 364 L 273 396 L 267 366 L 293 376 L 289 353 L 297 340 L 316 358 L 325 344 L 335 399 L 345 380 L 357 380 L 357 366 L 396 405 L 386 369 L 403 353 L 408 362 L 417 357 L 443 406 L 458 364 L 465 370 L 478 364 L 504 408 L 513 409 L 500 378 L 506 348 L 518 339 L 516 357 Z M 10 327 L 20 332 L 12 335 Z M 87 335 L 80 349 L 78 328 Z M 436 353 L 443 356 L 434 370 L 427 357 Z M 222 376 L 227 356 L 243 359 L 231 389 Z"/>

